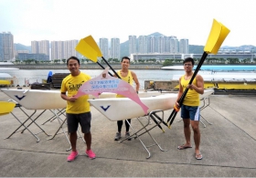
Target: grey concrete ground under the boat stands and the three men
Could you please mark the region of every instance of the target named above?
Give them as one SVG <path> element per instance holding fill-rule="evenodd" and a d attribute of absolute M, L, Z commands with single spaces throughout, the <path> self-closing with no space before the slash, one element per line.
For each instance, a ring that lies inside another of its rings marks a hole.
<path fill-rule="evenodd" d="M 0 100 L 8 100 L 0 91 Z M 35 102 L 40 102 L 35 99 Z M 49 99 L 50 102 L 50 99 Z M 69 142 L 65 135 L 59 134 L 52 140 L 45 133 L 37 134 L 40 141 L 29 133 L 17 132 L 10 135 L 20 125 L 10 113 L 0 116 L 0 176 L 1 177 L 255 177 L 256 176 L 256 96 L 212 95 L 210 104 L 201 110 L 200 151 L 203 160 L 195 159 L 195 145 L 191 134 L 192 149 L 178 150 L 177 146 L 185 143 L 183 121 L 177 114 L 171 129 L 165 127 L 162 132 L 158 127 L 150 131 L 157 146 L 148 148 L 151 157 L 138 139 L 117 142 L 114 136 L 117 124 L 106 119 L 98 110 L 91 107 L 92 121 L 91 149 L 97 158 L 90 160 L 85 156 L 85 143 L 78 139 L 79 156 L 74 162 L 67 162 Z M 23 108 L 24 109 L 24 108 Z M 26 110 L 32 114 L 34 110 Z M 123 110 L 129 110 L 123 109 Z M 32 117 L 35 118 L 39 112 Z M 133 111 L 133 110 L 131 110 Z M 167 120 L 172 110 L 165 110 Z M 24 121 L 25 113 L 15 108 L 13 113 Z M 45 121 L 53 116 L 49 110 L 36 120 L 37 124 L 48 134 L 53 135 L 59 128 L 57 119 Z M 62 116 L 61 116 L 62 117 Z M 64 119 L 62 117 L 62 119 Z M 141 119 L 143 122 L 145 118 Z M 154 124 L 154 122 L 153 122 Z M 141 128 L 138 120 L 132 120 L 134 130 Z M 64 124 L 64 131 L 66 125 Z M 32 123 L 28 128 L 39 132 Z M 123 126 L 122 135 L 125 128 Z M 153 144 L 145 133 L 140 137 L 145 145 Z"/>

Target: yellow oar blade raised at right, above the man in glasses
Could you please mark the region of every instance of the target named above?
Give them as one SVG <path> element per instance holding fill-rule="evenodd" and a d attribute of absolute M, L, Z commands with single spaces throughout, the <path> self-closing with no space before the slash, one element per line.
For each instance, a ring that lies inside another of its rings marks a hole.
<path fill-rule="evenodd" d="M 219 51 L 219 47 L 225 40 L 225 38 L 229 35 L 229 28 L 219 23 L 217 20 L 213 19 L 213 23 L 211 26 L 211 30 L 208 36 L 207 44 L 204 48 L 204 51 L 208 54 L 217 54 Z"/>

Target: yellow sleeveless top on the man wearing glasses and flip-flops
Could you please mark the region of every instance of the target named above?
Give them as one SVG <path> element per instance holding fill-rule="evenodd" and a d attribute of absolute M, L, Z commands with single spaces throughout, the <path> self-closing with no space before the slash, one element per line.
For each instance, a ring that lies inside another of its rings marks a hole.
<path fill-rule="evenodd" d="M 187 88 L 187 85 L 189 83 L 190 79 L 185 79 L 185 75 L 181 77 L 181 86 L 183 88 L 183 91 Z M 194 85 L 197 85 L 197 79 L 195 78 L 192 82 Z M 184 105 L 187 106 L 199 106 L 200 100 L 199 100 L 199 94 L 195 89 L 188 89 L 187 95 L 183 101 Z"/>

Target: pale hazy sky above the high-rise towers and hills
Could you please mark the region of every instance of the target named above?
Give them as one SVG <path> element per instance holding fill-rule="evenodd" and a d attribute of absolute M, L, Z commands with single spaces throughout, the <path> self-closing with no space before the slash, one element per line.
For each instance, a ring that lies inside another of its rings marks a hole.
<path fill-rule="evenodd" d="M 15 43 L 159 32 L 205 46 L 215 18 L 230 29 L 222 46 L 256 46 L 255 0 L 0 0 L 0 32 Z"/>

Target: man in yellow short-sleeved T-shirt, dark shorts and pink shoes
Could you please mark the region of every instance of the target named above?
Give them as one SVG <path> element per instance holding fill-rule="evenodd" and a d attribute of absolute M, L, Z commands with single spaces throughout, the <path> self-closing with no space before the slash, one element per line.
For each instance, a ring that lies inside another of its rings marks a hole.
<path fill-rule="evenodd" d="M 77 151 L 77 131 L 80 123 L 81 131 L 84 133 L 87 149 L 85 154 L 90 158 L 96 157 L 91 151 L 91 110 L 88 102 L 89 95 L 83 95 L 76 99 L 80 86 L 91 79 L 87 74 L 80 72 L 80 60 L 76 57 L 70 57 L 67 60 L 67 66 L 70 74 L 62 80 L 60 97 L 67 100 L 66 116 L 68 122 L 69 140 L 72 152 L 69 154 L 67 161 L 72 162 L 78 156 Z"/>

